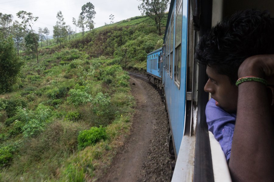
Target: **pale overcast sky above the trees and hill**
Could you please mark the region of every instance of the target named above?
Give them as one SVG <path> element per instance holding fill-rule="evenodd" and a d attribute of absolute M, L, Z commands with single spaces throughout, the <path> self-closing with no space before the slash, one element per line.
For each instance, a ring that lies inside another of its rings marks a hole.
<path fill-rule="evenodd" d="M 114 22 L 141 15 L 138 0 L 0 0 L 0 12 L 3 14 L 12 14 L 13 20 L 22 20 L 17 18 L 16 13 L 20 10 L 33 13 L 38 16 L 33 29 L 38 31 L 38 27 L 44 29 L 47 27 L 50 34 L 53 34 L 53 26 L 56 24 L 57 12 L 61 11 L 66 25 L 70 25 L 73 30 L 72 17 L 78 19 L 81 7 L 87 2 L 94 5 L 96 15 L 94 18 L 95 28 L 110 23 L 109 16 L 114 15 Z M 86 29 L 87 30 L 87 29 Z M 77 33 L 81 30 L 77 27 Z"/>

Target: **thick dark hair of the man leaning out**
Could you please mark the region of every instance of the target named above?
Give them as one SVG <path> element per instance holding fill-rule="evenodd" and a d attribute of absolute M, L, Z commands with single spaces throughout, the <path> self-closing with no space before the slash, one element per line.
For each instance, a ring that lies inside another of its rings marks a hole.
<path fill-rule="evenodd" d="M 249 9 L 217 23 L 201 39 L 196 49 L 198 63 L 227 75 L 231 84 L 248 57 L 274 53 L 274 21 L 269 12 Z"/>

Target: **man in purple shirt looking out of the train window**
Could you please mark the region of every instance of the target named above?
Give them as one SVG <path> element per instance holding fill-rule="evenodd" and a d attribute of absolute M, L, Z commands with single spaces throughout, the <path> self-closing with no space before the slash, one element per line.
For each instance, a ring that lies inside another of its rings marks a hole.
<path fill-rule="evenodd" d="M 197 47 L 198 62 L 207 65 L 204 89 L 213 98 L 206 107 L 207 123 L 234 181 L 274 181 L 274 93 L 267 87 L 274 85 L 271 54 L 274 22 L 258 10 L 218 23 Z"/>

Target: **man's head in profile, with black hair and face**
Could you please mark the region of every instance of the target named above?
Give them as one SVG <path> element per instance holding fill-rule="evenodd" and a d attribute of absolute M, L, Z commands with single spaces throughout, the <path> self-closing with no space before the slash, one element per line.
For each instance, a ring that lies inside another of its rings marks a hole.
<path fill-rule="evenodd" d="M 228 112 L 237 109 L 235 82 L 238 69 L 248 57 L 274 53 L 274 22 L 258 10 L 237 12 L 213 27 L 200 40 L 196 59 L 207 65 L 205 91 Z"/>

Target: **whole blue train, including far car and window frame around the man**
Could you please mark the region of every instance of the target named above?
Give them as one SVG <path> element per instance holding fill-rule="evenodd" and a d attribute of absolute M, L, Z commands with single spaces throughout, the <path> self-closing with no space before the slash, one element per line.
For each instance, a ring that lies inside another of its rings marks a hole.
<path fill-rule="evenodd" d="M 147 74 L 153 82 L 162 82 L 170 125 L 169 151 L 176 159 L 173 182 L 231 181 L 223 151 L 206 124 L 205 107 L 210 98 L 203 90 L 208 79 L 206 66 L 198 65 L 194 55 L 199 37 L 212 26 L 238 10 L 252 8 L 267 9 L 274 15 L 271 0 L 170 2 L 163 48 L 148 54 Z M 157 52 L 162 52 L 161 73 L 159 67 L 151 66 Z"/>

